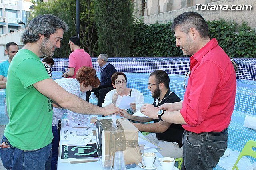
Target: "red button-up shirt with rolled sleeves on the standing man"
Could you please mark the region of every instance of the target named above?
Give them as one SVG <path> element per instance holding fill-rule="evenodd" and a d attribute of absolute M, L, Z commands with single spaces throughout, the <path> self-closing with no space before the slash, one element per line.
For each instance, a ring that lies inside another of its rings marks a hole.
<path fill-rule="evenodd" d="M 228 127 L 235 105 L 236 73 L 215 38 L 190 57 L 190 76 L 180 113 L 185 130 L 220 132 Z"/>

